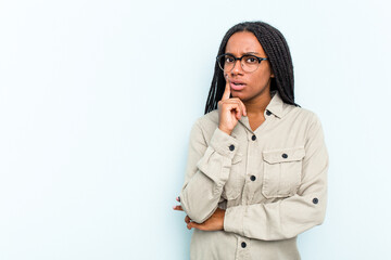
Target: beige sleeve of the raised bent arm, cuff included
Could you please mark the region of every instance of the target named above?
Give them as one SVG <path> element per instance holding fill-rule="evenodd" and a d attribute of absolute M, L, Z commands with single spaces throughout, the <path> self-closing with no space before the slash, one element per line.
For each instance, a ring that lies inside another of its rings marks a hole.
<path fill-rule="evenodd" d="M 181 207 L 192 221 L 202 223 L 216 210 L 238 146 L 239 142 L 219 128 L 206 142 L 200 121 L 193 125 L 180 192 Z"/>

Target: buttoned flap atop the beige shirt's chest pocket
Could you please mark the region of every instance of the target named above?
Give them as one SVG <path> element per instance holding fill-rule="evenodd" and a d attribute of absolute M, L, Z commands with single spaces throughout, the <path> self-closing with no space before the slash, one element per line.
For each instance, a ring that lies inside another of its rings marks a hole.
<path fill-rule="evenodd" d="M 301 160 L 305 155 L 304 147 L 264 151 L 263 159 L 269 164 Z"/>

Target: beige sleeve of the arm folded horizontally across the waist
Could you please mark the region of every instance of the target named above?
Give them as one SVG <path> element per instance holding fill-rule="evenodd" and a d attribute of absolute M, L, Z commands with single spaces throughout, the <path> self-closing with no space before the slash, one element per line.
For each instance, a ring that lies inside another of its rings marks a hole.
<path fill-rule="evenodd" d="M 225 231 L 249 238 L 276 240 L 294 237 L 323 223 L 329 156 L 323 128 L 315 114 L 307 129 L 304 148 L 298 192 L 275 203 L 228 208 L 224 220 Z"/>

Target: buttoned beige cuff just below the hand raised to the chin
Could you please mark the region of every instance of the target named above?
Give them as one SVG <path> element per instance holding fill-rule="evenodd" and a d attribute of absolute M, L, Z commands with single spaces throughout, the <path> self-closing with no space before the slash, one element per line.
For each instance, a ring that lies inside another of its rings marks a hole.
<path fill-rule="evenodd" d="M 217 127 L 211 138 L 211 146 L 217 153 L 228 156 L 230 159 L 232 159 L 239 148 L 239 142 L 236 140 L 236 138 L 222 131 Z"/>

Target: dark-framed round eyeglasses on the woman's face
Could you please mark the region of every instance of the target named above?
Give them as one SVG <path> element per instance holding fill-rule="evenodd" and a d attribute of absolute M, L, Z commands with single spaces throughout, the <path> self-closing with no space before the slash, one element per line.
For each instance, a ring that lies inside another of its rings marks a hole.
<path fill-rule="evenodd" d="M 267 57 L 258 57 L 252 54 L 245 54 L 241 57 L 236 57 L 232 54 L 224 53 L 216 56 L 216 60 L 218 66 L 225 73 L 229 73 L 230 70 L 232 70 L 236 61 L 238 60 L 240 61 L 240 65 L 245 73 L 253 73 L 258 68 L 261 62 L 267 60 Z"/>

